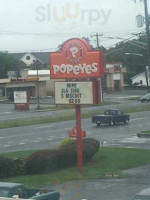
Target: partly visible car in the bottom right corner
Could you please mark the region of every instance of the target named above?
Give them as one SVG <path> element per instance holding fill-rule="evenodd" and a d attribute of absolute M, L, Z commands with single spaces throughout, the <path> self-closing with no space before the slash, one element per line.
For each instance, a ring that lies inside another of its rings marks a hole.
<path fill-rule="evenodd" d="M 150 199 L 150 188 L 141 190 L 132 198 L 132 200 L 149 200 L 149 199 Z"/>

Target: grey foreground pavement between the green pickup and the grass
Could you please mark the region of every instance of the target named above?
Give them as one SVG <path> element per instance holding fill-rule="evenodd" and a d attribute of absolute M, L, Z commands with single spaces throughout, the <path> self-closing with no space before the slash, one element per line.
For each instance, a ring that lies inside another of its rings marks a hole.
<path fill-rule="evenodd" d="M 129 178 L 69 181 L 47 189 L 58 190 L 62 200 L 131 200 L 150 187 L 150 165 L 124 170 Z"/>

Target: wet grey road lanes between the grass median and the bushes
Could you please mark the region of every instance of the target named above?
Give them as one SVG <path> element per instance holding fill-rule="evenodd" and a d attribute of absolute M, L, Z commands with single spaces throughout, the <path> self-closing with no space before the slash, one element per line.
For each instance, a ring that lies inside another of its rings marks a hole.
<path fill-rule="evenodd" d="M 102 146 L 122 146 L 150 148 L 150 139 L 139 139 L 136 134 L 150 129 L 150 112 L 139 112 L 130 115 L 130 123 L 97 127 L 91 119 L 82 120 L 82 129 L 87 137 L 101 141 Z M 68 132 L 75 126 L 75 121 L 52 124 L 33 125 L 0 129 L 0 151 L 20 151 L 28 149 L 55 148 L 68 137 Z"/>

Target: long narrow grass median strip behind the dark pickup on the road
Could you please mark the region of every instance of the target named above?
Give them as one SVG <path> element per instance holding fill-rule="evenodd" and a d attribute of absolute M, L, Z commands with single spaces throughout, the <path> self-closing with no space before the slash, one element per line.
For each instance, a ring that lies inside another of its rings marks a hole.
<path fill-rule="evenodd" d="M 119 106 L 116 106 L 116 108 Z M 134 113 L 134 112 L 141 112 L 141 111 L 150 111 L 150 105 L 141 105 L 138 107 L 128 107 L 128 108 L 121 108 L 121 111 L 124 113 Z M 97 109 L 96 111 L 88 111 L 88 113 L 82 114 L 82 119 L 91 118 L 93 115 L 103 114 L 104 109 Z M 20 127 L 20 126 L 29 126 L 29 125 L 36 125 L 36 124 L 46 124 L 46 123 L 53 123 L 53 122 L 60 122 L 60 121 L 68 121 L 68 120 L 75 120 L 75 112 L 68 112 L 62 114 L 61 112 L 57 114 L 57 116 L 44 116 L 44 117 L 32 117 L 32 118 L 24 118 L 24 119 L 13 119 L 13 120 L 5 120 L 0 122 L 0 129 L 3 128 L 12 128 L 12 127 Z"/>

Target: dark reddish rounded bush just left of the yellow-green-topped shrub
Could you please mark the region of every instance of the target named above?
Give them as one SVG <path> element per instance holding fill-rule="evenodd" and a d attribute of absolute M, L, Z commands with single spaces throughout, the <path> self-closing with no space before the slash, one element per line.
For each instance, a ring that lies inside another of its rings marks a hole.
<path fill-rule="evenodd" d="M 26 159 L 27 173 L 39 174 L 57 167 L 58 150 L 41 150 Z"/>

